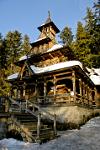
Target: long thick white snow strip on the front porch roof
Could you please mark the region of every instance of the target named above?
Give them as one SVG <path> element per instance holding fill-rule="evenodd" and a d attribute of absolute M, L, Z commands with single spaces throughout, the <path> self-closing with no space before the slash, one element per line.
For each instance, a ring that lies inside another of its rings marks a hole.
<path fill-rule="evenodd" d="M 82 63 L 80 61 L 75 61 L 75 60 L 57 63 L 54 65 L 46 66 L 44 68 L 35 67 L 34 65 L 31 65 L 30 67 L 34 73 L 39 74 L 39 73 L 45 73 L 45 72 L 50 72 L 50 71 L 54 71 L 54 70 L 59 70 L 62 68 L 69 68 L 69 67 L 73 67 L 73 66 L 79 66 L 81 69 L 83 69 Z"/>

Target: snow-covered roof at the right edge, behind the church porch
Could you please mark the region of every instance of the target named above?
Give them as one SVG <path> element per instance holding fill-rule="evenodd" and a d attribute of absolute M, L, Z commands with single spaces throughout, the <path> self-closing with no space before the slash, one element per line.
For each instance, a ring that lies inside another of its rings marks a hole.
<path fill-rule="evenodd" d="M 100 85 L 100 68 L 87 68 L 89 77 L 95 85 Z"/>

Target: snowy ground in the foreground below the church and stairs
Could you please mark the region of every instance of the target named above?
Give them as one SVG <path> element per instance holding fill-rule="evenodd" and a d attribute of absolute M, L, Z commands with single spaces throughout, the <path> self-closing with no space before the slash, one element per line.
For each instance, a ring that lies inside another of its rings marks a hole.
<path fill-rule="evenodd" d="M 100 117 L 91 119 L 80 130 L 60 134 L 61 137 L 42 145 L 3 139 L 0 150 L 100 150 Z"/>

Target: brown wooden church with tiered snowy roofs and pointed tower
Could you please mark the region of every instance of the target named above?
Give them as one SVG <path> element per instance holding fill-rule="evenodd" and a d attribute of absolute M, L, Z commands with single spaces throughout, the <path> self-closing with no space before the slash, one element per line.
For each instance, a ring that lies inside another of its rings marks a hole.
<path fill-rule="evenodd" d="M 20 71 L 8 77 L 11 97 L 41 107 L 48 105 L 95 105 L 95 85 L 73 51 L 56 41 L 59 29 L 50 14 L 38 27 L 39 38 L 16 65 Z"/>

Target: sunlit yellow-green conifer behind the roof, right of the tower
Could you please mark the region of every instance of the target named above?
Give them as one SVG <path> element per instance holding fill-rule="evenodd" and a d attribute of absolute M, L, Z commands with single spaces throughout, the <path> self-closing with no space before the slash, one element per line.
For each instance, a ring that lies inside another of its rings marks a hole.
<path fill-rule="evenodd" d="M 88 34 L 81 22 L 77 24 L 76 40 L 72 44 L 72 49 L 76 57 L 84 63 L 84 65 L 91 65 L 89 63 L 90 48 L 89 48 Z"/>

